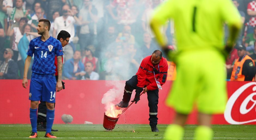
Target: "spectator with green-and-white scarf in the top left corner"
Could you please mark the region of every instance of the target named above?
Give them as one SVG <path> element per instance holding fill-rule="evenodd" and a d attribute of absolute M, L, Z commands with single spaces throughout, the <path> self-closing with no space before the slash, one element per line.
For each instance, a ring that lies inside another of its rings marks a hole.
<path fill-rule="evenodd" d="M 16 7 L 3 7 L 3 0 L 0 0 L 0 9 L 7 13 L 10 17 L 10 21 L 13 22 L 13 27 L 19 27 L 19 21 L 22 17 L 27 17 L 30 19 L 29 10 L 24 9 L 22 6 L 24 4 L 24 0 L 16 0 Z"/>

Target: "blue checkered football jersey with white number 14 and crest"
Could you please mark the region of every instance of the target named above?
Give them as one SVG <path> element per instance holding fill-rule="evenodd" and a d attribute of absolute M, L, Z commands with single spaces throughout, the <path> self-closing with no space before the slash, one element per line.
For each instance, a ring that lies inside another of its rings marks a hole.
<path fill-rule="evenodd" d="M 28 56 L 33 56 L 34 62 L 32 72 L 37 74 L 54 74 L 55 55 L 63 55 L 62 45 L 59 40 L 50 36 L 45 42 L 40 37 L 36 37 L 29 43 Z"/>

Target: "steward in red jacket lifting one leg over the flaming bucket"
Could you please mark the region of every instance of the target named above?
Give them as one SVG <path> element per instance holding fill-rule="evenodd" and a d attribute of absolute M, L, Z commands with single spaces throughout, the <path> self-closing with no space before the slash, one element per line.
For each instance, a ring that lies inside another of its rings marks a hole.
<path fill-rule="evenodd" d="M 124 87 L 123 99 L 116 106 L 120 108 L 127 107 L 135 89 L 135 104 L 140 100 L 139 95 L 147 92 L 149 121 L 152 132 L 159 132 L 157 128 L 157 104 L 159 88 L 166 82 L 168 65 L 166 59 L 162 57 L 160 50 L 155 50 L 152 55 L 145 57 L 138 69 L 136 75 L 126 81 Z M 144 90 L 143 90 L 144 88 Z"/>

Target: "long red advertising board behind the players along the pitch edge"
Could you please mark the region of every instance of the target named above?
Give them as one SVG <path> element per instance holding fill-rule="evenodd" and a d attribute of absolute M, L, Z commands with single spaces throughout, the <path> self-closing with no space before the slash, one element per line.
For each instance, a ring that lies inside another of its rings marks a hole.
<path fill-rule="evenodd" d="M 30 81 L 29 81 L 30 82 Z M 72 124 L 102 124 L 105 105 L 102 98 L 118 103 L 123 96 L 125 81 L 64 80 L 65 90 L 56 93 L 55 124 L 64 123 L 63 114 L 70 114 Z M 174 111 L 165 105 L 172 81 L 167 81 L 159 91 L 158 123 L 169 124 Z M 0 80 L 0 124 L 27 124 L 29 120 L 29 84 L 22 87 L 22 80 Z M 227 81 L 227 106 L 224 114 L 213 116 L 212 124 L 256 124 L 256 82 Z M 132 99 L 135 94 L 132 94 Z M 116 100 L 114 100 L 116 97 Z M 121 114 L 117 124 L 149 124 L 147 94 L 142 94 L 137 104 Z M 188 117 L 188 124 L 196 124 L 196 110 Z"/>

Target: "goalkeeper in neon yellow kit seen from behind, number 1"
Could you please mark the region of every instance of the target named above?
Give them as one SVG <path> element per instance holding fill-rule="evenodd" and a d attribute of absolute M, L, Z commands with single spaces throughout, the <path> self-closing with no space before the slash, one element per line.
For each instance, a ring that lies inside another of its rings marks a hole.
<path fill-rule="evenodd" d="M 178 50 L 173 52 L 167 49 L 166 38 L 160 32 L 169 18 L 174 20 L 176 31 Z M 224 23 L 230 33 L 225 47 Z M 224 113 L 227 102 L 224 63 L 241 28 L 237 8 L 231 0 L 167 0 L 156 8 L 150 25 L 161 47 L 177 64 L 176 81 L 167 97 L 167 105 L 175 109 L 176 116 L 166 129 L 165 139 L 183 138 L 194 103 L 199 112 L 194 137 L 212 139 L 212 114 Z"/>

